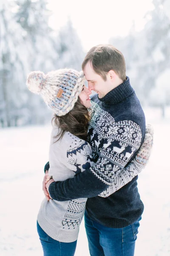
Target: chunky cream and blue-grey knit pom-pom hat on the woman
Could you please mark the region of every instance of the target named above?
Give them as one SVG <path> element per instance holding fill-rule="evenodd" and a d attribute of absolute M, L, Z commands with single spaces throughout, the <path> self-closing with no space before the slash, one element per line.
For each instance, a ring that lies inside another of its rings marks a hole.
<path fill-rule="evenodd" d="M 45 103 L 57 116 L 64 116 L 74 108 L 85 82 L 83 72 L 73 69 L 29 73 L 27 87 L 32 93 L 40 94 Z"/>

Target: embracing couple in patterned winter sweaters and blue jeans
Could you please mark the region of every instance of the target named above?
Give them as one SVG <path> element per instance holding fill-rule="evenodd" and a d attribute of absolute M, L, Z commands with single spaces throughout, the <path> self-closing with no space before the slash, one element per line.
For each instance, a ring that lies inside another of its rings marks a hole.
<path fill-rule="evenodd" d="M 44 256 L 74 256 L 83 216 L 91 256 L 133 256 L 144 210 L 137 179 L 153 131 L 145 126 L 122 52 L 98 45 L 81 72 L 34 71 L 27 86 L 54 112 L 37 217 Z"/>

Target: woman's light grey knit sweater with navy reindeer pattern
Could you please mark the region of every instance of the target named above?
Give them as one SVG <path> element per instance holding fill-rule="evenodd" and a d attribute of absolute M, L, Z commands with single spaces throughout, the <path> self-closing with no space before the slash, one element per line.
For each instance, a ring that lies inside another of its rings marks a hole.
<path fill-rule="evenodd" d="M 48 174 L 55 181 L 73 178 L 79 172 L 94 166 L 91 146 L 86 141 L 66 132 L 62 140 L 56 142 L 54 136 L 57 133 L 58 127 L 54 126 L 51 133 Z M 143 165 L 134 161 L 124 168 L 112 185 L 99 196 L 108 197 L 138 175 Z M 45 198 L 42 201 L 37 221 L 51 238 L 60 242 L 76 241 L 86 201 L 87 198 L 63 202 L 52 199 L 47 201 Z"/>

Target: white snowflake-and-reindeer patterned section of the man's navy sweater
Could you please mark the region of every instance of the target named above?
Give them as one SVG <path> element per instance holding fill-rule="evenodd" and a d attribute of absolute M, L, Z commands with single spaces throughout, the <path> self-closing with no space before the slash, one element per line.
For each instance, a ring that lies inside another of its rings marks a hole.
<path fill-rule="evenodd" d="M 89 134 L 93 157 L 97 162 L 91 171 L 105 184 L 112 186 L 116 176 L 139 149 L 142 132 L 140 126 L 132 120 L 115 122 L 113 116 L 99 105 L 93 102 L 92 106 Z"/>

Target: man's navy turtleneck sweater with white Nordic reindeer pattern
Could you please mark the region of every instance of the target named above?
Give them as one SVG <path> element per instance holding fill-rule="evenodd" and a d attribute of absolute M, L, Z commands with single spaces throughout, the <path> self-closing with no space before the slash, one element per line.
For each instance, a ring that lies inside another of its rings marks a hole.
<path fill-rule="evenodd" d="M 96 165 L 74 178 L 51 183 L 49 193 L 57 201 L 88 198 L 86 211 L 93 220 L 107 227 L 126 227 L 137 221 L 144 209 L 137 189 L 138 177 L 107 198 L 98 195 L 134 158 L 142 144 L 144 112 L 128 77 L 102 99 L 94 95 L 91 100 L 88 142 Z"/>

